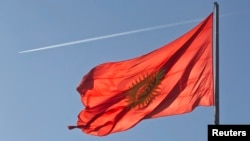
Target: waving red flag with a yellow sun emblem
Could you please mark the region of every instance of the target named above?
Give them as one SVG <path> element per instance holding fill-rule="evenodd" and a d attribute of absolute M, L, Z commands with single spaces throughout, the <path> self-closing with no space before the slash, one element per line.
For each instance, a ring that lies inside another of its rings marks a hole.
<path fill-rule="evenodd" d="M 94 67 L 77 87 L 85 109 L 69 129 L 105 136 L 143 119 L 212 106 L 212 25 L 213 13 L 157 50 Z"/>

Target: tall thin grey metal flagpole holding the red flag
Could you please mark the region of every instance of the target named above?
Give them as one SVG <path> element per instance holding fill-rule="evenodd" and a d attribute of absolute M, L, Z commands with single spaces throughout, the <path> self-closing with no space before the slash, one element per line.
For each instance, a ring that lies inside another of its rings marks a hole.
<path fill-rule="evenodd" d="M 215 18 L 214 18 L 214 49 L 215 49 L 215 92 L 214 92 L 214 102 L 215 102 L 215 117 L 214 124 L 220 124 L 219 118 L 219 5 L 217 2 L 214 2 L 215 8 Z"/>

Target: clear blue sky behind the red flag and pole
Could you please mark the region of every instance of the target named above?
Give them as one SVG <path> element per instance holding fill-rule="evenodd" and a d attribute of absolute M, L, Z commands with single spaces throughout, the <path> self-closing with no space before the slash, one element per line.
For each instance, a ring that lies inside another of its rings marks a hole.
<path fill-rule="evenodd" d="M 213 107 L 149 119 L 106 137 L 68 130 L 84 108 L 76 91 L 94 66 L 152 51 L 194 27 L 176 25 L 29 53 L 24 50 L 203 19 L 212 0 L 0 0 L 0 140 L 205 141 Z M 219 0 L 220 121 L 250 124 L 250 1 Z"/>

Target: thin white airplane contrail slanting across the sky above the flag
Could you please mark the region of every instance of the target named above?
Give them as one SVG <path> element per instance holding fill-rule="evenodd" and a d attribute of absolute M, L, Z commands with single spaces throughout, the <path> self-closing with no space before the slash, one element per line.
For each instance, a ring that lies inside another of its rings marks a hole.
<path fill-rule="evenodd" d="M 107 39 L 107 38 L 112 38 L 112 37 L 118 37 L 118 36 L 134 34 L 134 33 L 138 33 L 138 32 L 144 32 L 144 31 L 156 30 L 156 29 L 161 29 L 161 28 L 173 27 L 173 26 L 177 26 L 177 25 L 183 25 L 183 24 L 197 22 L 197 21 L 200 21 L 200 20 L 202 20 L 202 19 L 193 19 L 193 20 L 188 20 L 188 21 L 184 21 L 184 22 L 178 22 L 178 23 L 148 27 L 148 28 L 137 29 L 137 30 L 127 31 L 127 32 L 121 32 L 121 33 L 115 33 L 115 34 L 110 34 L 110 35 L 93 37 L 93 38 L 88 38 L 88 39 L 83 39 L 83 40 L 78 40 L 78 41 L 72 41 L 72 42 L 67 42 L 67 43 L 62 43 L 62 44 L 45 46 L 45 47 L 41 47 L 41 48 L 20 51 L 18 53 L 28 53 L 28 52 L 35 52 L 35 51 L 41 51 L 41 50 L 46 50 L 46 49 L 52 49 L 52 48 L 59 48 L 59 47 L 75 45 L 75 44 L 80 44 L 80 43 L 86 43 L 86 42 L 91 42 L 91 41 L 96 41 L 96 40 L 101 40 L 101 39 Z"/>

